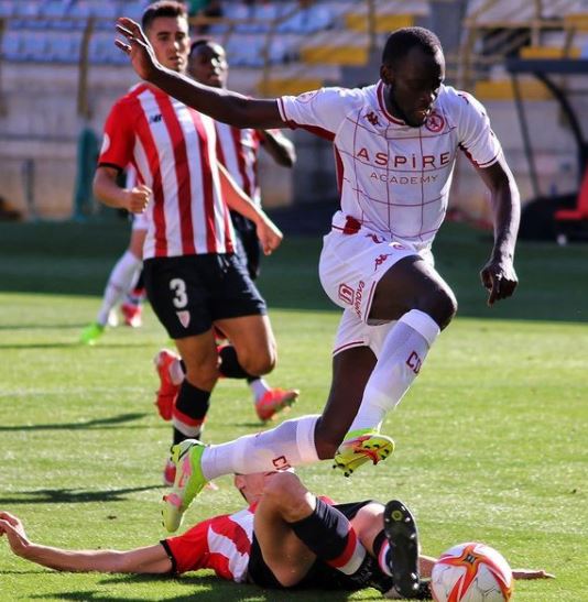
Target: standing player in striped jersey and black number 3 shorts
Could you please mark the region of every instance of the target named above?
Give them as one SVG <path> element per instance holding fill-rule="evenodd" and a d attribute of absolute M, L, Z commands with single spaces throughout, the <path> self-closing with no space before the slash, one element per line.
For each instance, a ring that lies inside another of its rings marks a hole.
<path fill-rule="evenodd" d="M 143 26 L 159 59 L 183 73 L 189 51 L 184 6 L 151 4 Z M 214 121 L 149 84 L 138 84 L 112 107 L 98 163 L 100 200 L 148 211 L 145 286 L 186 368 L 172 415 L 177 444 L 200 435 L 219 374 L 262 375 L 275 365 L 265 302 L 235 254 L 229 207 L 255 223 L 265 253 L 277 248 L 282 234 L 218 165 Z M 152 191 L 151 200 L 118 186 L 117 176 L 129 164 Z M 214 326 L 232 343 L 220 353 L 220 365 Z M 170 470 L 174 467 L 167 464 L 166 480 Z"/>

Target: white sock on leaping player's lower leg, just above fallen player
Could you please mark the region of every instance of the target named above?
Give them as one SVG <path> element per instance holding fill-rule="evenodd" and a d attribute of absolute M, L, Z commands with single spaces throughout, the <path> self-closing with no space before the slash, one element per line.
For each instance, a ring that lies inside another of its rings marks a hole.
<path fill-rule="evenodd" d="M 203 474 L 210 481 L 222 474 L 270 472 L 318 462 L 315 447 L 318 418 L 318 415 L 302 416 L 271 430 L 209 446 L 203 453 Z"/>

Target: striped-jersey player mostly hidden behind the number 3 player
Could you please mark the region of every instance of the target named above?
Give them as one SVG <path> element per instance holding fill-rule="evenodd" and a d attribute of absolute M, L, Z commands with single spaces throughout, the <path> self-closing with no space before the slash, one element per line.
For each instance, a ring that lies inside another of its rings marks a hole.
<path fill-rule="evenodd" d="M 200 39 L 192 43 L 188 56 L 188 72 L 197 80 L 216 88 L 226 88 L 229 65 L 225 48 L 211 40 Z M 227 168 L 237 185 L 261 207 L 261 190 L 258 182 L 258 155 L 263 146 L 272 158 L 284 167 L 292 167 L 296 161 L 294 145 L 280 130 L 263 131 L 239 129 L 226 123 L 215 122 L 217 132 L 218 160 Z M 246 264 L 251 280 L 260 272 L 260 243 L 254 223 L 231 211 L 231 221 L 237 234 L 237 254 Z M 220 339 L 224 339 L 220 336 Z M 219 344 L 224 344 L 219 341 Z M 179 358 L 163 349 L 155 358 L 161 386 L 157 396 L 157 407 L 164 418 L 170 418 L 172 407 L 177 396 L 183 371 Z M 264 379 L 250 376 L 247 379 L 253 392 L 255 412 L 260 420 L 273 418 L 277 412 L 294 403 L 298 396 L 297 390 L 272 388 Z"/>

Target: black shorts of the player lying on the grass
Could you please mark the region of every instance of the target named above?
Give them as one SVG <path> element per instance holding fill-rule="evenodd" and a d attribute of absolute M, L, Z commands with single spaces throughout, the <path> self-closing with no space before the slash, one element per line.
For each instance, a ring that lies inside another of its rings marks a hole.
<path fill-rule="evenodd" d="M 366 500 L 363 502 L 350 502 L 348 504 L 336 504 L 336 507 L 341 512 L 349 521 L 366 505 L 371 504 L 373 500 Z M 251 544 L 251 552 L 249 554 L 248 578 L 251 583 L 261 588 L 271 589 L 317 589 L 317 590 L 361 590 L 368 587 L 368 583 L 358 583 L 357 580 L 349 579 L 341 571 L 330 567 L 318 558 L 311 567 L 305 577 L 292 588 L 284 588 L 277 581 L 272 570 L 263 560 L 261 548 L 259 546 L 258 538 L 253 533 L 253 541 Z"/>

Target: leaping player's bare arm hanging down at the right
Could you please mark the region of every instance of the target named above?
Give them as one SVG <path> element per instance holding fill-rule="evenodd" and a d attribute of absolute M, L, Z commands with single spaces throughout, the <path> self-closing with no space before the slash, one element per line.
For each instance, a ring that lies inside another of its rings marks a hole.
<path fill-rule="evenodd" d="M 490 260 L 482 267 L 480 277 L 489 292 L 488 305 L 510 297 L 519 278 L 514 271 L 514 247 L 521 220 L 521 200 L 514 177 L 504 157 L 478 173 L 490 189 L 493 222 L 494 247 Z"/>

